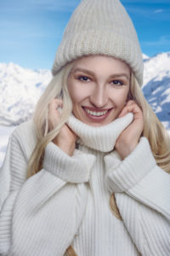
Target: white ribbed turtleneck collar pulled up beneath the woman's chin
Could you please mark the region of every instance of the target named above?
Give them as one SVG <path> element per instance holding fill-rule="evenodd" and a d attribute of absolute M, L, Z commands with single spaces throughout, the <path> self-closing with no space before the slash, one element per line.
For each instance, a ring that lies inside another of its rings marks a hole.
<path fill-rule="evenodd" d="M 127 115 L 115 119 L 108 125 L 94 127 L 82 123 L 71 114 L 67 124 L 80 138 L 78 143 L 102 152 L 110 152 L 115 147 L 116 139 L 132 121 L 133 113 L 127 113 Z"/>

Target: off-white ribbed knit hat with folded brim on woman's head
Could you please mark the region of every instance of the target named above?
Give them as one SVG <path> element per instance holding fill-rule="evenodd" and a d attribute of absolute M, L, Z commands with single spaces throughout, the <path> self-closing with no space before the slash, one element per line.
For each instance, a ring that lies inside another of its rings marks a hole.
<path fill-rule="evenodd" d="M 82 0 L 71 15 L 52 73 L 82 55 L 109 55 L 127 62 L 139 85 L 143 57 L 133 22 L 119 0 Z"/>

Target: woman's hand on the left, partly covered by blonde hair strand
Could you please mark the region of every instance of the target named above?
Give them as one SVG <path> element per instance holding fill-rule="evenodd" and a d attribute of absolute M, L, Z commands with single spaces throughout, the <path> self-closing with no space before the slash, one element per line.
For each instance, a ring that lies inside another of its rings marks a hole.
<path fill-rule="evenodd" d="M 59 124 L 59 108 L 62 107 L 63 102 L 61 99 L 53 99 L 49 103 L 48 122 L 51 130 L 53 130 Z M 69 154 L 71 156 L 75 150 L 76 140 L 77 135 L 73 131 L 71 131 L 71 129 L 67 125 L 64 125 L 61 131 L 59 131 L 57 137 L 54 138 L 53 143 L 55 143 L 66 154 Z"/>

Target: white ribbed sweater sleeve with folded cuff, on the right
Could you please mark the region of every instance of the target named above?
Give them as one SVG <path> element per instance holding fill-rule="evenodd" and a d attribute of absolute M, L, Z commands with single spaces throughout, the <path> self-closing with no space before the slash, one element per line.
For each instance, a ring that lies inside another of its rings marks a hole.
<path fill-rule="evenodd" d="M 125 160 L 105 156 L 105 183 L 142 255 L 170 254 L 170 175 L 156 165 L 145 137 Z"/>

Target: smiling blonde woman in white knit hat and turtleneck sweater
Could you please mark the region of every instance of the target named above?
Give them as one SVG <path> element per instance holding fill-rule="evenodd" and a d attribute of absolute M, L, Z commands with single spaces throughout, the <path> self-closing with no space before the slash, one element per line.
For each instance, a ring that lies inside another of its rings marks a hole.
<path fill-rule="evenodd" d="M 168 255 L 170 140 L 117 0 L 84 0 L 1 170 L 2 255 Z"/>

